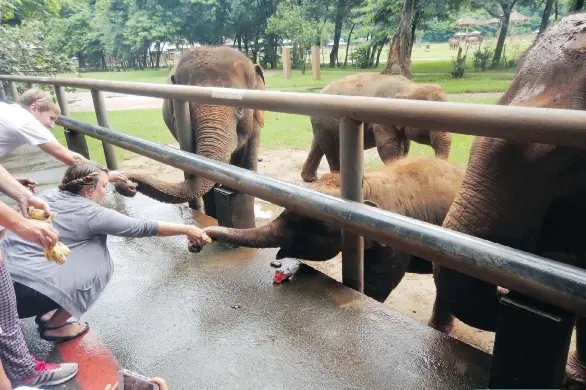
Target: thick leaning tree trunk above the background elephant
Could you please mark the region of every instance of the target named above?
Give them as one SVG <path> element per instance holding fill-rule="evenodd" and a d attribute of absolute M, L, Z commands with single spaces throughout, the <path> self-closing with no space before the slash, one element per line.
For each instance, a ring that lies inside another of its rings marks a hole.
<path fill-rule="evenodd" d="M 411 28 L 413 25 L 413 6 L 415 0 L 405 0 L 403 4 L 403 15 L 397 31 L 393 34 L 389 48 L 389 58 L 383 68 L 382 74 L 400 74 L 411 79 L 411 46 L 413 36 Z"/>

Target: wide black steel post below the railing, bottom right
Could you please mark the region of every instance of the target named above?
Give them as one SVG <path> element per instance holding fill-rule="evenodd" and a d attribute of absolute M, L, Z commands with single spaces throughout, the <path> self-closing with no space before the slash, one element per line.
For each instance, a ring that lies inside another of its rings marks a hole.
<path fill-rule="evenodd" d="M 574 316 L 514 292 L 501 299 L 489 388 L 560 389 Z"/>

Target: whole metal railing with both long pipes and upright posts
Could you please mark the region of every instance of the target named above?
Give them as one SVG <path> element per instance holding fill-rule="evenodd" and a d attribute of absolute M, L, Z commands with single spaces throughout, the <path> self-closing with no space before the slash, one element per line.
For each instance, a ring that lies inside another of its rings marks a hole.
<path fill-rule="evenodd" d="M 581 317 L 586 316 L 586 271 L 361 203 L 363 121 L 394 123 L 430 130 L 449 129 L 455 133 L 518 142 L 586 148 L 584 111 L 65 78 L 0 75 L 0 80 L 9 83 L 13 97 L 17 96 L 16 81 L 55 85 L 63 113 L 57 123 L 65 128 L 68 145 L 89 158 L 84 134 L 101 140 L 109 168 L 117 167 L 111 146 L 116 145 L 182 169 L 186 177 L 202 176 L 294 212 L 341 226 L 344 235 L 343 282 L 358 291 L 363 291 L 362 237 L 367 236 L 463 274 L 534 297 Z M 98 126 L 69 117 L 64 92 L 66 86 L 88 88 L 92 91 Z M 174 99 L 176 126 L 182 150 L 108 129 L 101 91 Z M 2 88 L 0 97 L 6 97 Z M 190 138 L 191 126 L 187 103 L 189 101 L 301 115 L 340 117 L 342 198 L 190 153 L 186 147 L 193 143 Z M 503 325 L 499 326 L 504 330 L 500 333 L 500 343 L 498 337 L 495 340 L 491 383 L 495 386 L 504 383 L 504 387 L 533 383 L 531 381 L 536 378 L 535 367 L 539 366 L 545 367 L 539 370 L 543 377 L 539 383 L 553 383 L 553 387 L 556 387 L 563 377 L 567 348 L 565 355 L 561 344 L 557 344 L 554 352 L 551 352 L 551 349 L 544 349 L 545 352 L 542 352 L 547 354 L 545 358 L 538 353 L 529 354 L 531 364 L 527 364 L 529 368 L 521 373 L 516 362 L 511 362 L 512 358 L 507 360 L 507 356 L 514 355 L 511 349 L 507 348 L 514 349 L 514 345 L 511 345 L 518 339 L 522 339 L 517 343 L 522 348 L 535 345 L 541 339 L 534 340 L 530 335 L 525 337 L 525 334 L 521 337 L 515 333 L 517 328 L 507 324 L 511 323 L 512 318 L 515 319 L 513 321 L 520 320 L 526 324 L 541 321 L 540 331 L 534 333 L 543 338 L 551 335 L 552 329 L 555 329 L 556 337 L 562 340 L 560 343 L 563 344 L 563 340 L 569 343 L 571 319 L 564 317 L 565 314 L 551 315 L 548 311 L 534 310 L 530 305 L 526 306 L 522 301 L 519 303 L 514 299 L 509 299 L 506 305 L 508 306 L 499 314 L 499 318 L 503 317 L 502 321 L 499 320 Z M 507 319 L 504 319 L 503 313 L 509 313 Z M 518 313 L 522 313 L 520 319 Z M 497 332 L 497 336 L 498 334 Z M 519 379 L 520 377 L 522 379 Z"/>

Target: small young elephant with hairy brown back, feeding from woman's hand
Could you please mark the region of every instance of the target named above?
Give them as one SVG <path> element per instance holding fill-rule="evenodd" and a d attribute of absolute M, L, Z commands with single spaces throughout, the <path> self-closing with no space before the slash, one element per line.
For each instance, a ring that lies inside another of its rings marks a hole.
<path fill-rule="evenodd" d="M 464 177 L 464 168 L 432 157 L 405 157 L 364 172 L 364 203 L 371 207 L 440 225 Z M 328 173 L 310 188 L 340 196 L 340 174 Z M 252 248 L 280 248 L 277 259 L 326 261 L 341 250 L 341 229 L 285 209 L 253 229 L 207 227 L 212 240 Z M 431 263 L 365 239 L 364 293 L 380 302 L 405 272 L 431 273 Z"/>

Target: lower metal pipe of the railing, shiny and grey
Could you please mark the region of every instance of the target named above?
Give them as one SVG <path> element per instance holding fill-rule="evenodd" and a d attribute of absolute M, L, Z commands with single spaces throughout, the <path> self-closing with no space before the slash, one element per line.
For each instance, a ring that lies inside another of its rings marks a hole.
<path fill-rule="evenodd" d="M 586 271 L 69 117 L 60 126 L 586 316 Z"/>

